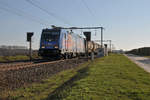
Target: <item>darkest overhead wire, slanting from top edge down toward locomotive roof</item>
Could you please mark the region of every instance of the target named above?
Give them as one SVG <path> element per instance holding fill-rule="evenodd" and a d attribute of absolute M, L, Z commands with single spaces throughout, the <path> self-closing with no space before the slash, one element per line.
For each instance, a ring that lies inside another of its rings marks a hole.
<path fill-rule="evenodd" d="M 47 13 L 49 16 L 54 17 L 55 19 L 57 19 L 57 20 L 63 22 L 63 23 L 66 24 L 66 25 L 71 25 L 71 23 L 68 22 L 67 20 L 65 20 L 64 18 L 62 18 L 62 17 L 56 15 L 55 13 L 52 13 L 52 12 L 48 11 L 47 9 L 41 7 L 41 6 L 39 5 L 39 2 L 36 1 L 36 2 L 38 3 L 38 4 L 37 4 L 37 3 L 35 3 L 35 0 L 26 0 L 26 1 L 27 1 L 28 3 L 30 3 L 32 6 L 34 6 L 34 7 L 38 8 L 38 9 L 40 9 L 41 11 Z"/>

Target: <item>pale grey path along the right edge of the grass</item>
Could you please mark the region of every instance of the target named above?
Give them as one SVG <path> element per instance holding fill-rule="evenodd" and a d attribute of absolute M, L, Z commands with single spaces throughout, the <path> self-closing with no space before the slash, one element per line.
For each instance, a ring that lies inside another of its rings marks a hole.
<path fill-rule="evenodd" d="M 150 73 L 150 59 L 146 57 L 141 57 L 132 54 L 125 54 L 131 61 L 139 65 L 139 67 L 143 68 L 145 71 Z"/>

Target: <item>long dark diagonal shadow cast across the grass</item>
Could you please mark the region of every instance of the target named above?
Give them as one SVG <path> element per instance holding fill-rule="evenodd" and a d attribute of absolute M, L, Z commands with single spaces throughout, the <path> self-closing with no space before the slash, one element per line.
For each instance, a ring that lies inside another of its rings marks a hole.
<path fill-rule="evenodd" d="M 58 87 L 48 96 L 48 98 L 44 100 L 62 100 L 64 97 L 67 97 L 69 95 L 69 92 L 71 91 L 71 88 L 77 85 L 75 84 L 75 81 L 83 79 L 89 75 L 87 73 L 88 70 L 88 67 L 80 69 L 74 77 Z"/>

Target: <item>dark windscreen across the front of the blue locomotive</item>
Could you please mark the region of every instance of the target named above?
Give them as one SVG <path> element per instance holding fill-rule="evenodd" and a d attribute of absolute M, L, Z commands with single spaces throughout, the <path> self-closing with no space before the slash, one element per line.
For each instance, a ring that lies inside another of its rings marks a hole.
<path fill-rule="evenodd" d="M 59 39 L 60 31 L 43 31 L 41 40 L 50 42 L 57 41 Z"/>

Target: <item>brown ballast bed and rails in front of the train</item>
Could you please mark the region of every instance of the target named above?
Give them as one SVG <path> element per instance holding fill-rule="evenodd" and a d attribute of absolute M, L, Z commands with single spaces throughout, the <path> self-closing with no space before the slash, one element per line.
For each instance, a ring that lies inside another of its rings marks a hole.
<path fill-rule="evenodd" d="M 12 90 L 33 82 L 41 82 L 44 78 L 60 71 L 76 68 L 85 59 L 67 59 L 39 63 L 6 64 L 0 67 L 0 91 Z"/>

